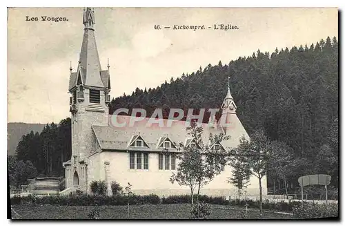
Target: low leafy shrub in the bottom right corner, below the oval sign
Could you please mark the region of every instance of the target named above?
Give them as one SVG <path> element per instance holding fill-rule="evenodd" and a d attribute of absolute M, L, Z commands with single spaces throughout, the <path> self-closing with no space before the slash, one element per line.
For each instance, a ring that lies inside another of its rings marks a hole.
<path fill-rule="evenodd" d="M 337 218 L 339 216 L 337 203 L 316 204 L 316 203 L 303 203 L 298 207 L 293 208 L 293 214 L 297 218 Z"/>

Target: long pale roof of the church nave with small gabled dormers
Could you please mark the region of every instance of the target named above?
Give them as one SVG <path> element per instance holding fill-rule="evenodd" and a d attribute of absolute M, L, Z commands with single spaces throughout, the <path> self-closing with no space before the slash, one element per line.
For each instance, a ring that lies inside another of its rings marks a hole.
<path fill-rule="evenodd" d="M 237 147 L 239 144 L 239 138 L 244 135 L 249 139 L 244 126 L 239 121 L 236 114 L 229 115 L 230 122 L 232 125 L 228 127 L 227 135 L 230 135 L 230 140 L 221 142 L 221 145 L 225 148 Z M 131 119 L 135 117 L 117 115 L 117 122 L 130 122 Z M 173 143 L 177 145 L 179 143 L 186 143 L 186 139 L 190 138 L 186 133 L 186 122 L 176 121 L 172 122 L 172 126 L 168 128 L 167 126 L 159 127 L 157 124 L 153 126 L 146 126 L 149 118 L 145 118 L 141 122 L 135 122 L 135 126 L 124 126 L 122 128 L 115 127 L 112 125 L 109 126 L 97 126 L 93 125 L 92 130 L 95 132 L 97 142 L 101 149 L 104 150 L 141 150 L 141 151 L 162 151 L 162 148 L 159 148 L 157 144 L 161 142 L 161 138 L 168 137 Z M 168 120 L 163 120 L 164 124 Z M 208 142 L 209 133 L 219 134 L 222 132 L 221 126 L 217 128 L 209 127 L 208 124 L 203 124 L 204 133 L 203 140 L 204 143 Z M 133 135 L 140 135 L 141 138 L 148 144 L 148 148 L 138 148 L 138 147 L 128 147 L 128 143 L 132 139 Z"/>

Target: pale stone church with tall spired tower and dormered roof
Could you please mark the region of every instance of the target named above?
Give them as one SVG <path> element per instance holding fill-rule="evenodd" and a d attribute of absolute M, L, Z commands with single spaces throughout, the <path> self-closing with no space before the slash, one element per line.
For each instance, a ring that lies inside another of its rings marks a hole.
<path fill-rule="evenodd" d="M 186 123 L 175 120 L 171 126 L 146 126 L 145 118 L 135 126 L 113 126 L 109 115 L 110 103 L 110 66 L 102 70 L 95 40 L 95 12 L 92 8 L 83 10 L 83 41 L 77 70 L 70 68 L 70 113 L 72 123 L 72 157 L 63 163 L 65 168 L 66 190 L 90 193 L 90 183 L 104 180 L 111 194 L 110 184 L 118 182 L 126 187 L 132 185 L 135 194 L 157 194 L 170 196 L 189 194 L 188 187 L 170 182 L 172 172 L 177 171 L 179 152 L 177 144 L 193 145 L 186 131 Z M 115 75 L 116 76 L 116 75 Z M 121 84 L 119 84 L 121 85 Z M 224 92 L 225 94 L 225 92 Z M 220 126 L 210 120 L 212 126 L 203 124 L 204 142 L 209 133 L 226 133 L 230 139 L 221 142 L 228 150 L 237 147 L 239 139 L 248 134 L 236 114 L 237 106 L 230 93 L 230 86 L 221 105 L 221 119 L 231 126 Z M 129 122 L 132 116 L 117 116 L 117 121 Z M 166 123 L 167 120 L 164 120 Z M 221 120 L 219 120 L 221 121 Z M 164 154 L 168 149 L 168 155 Z M 230 166 L 201 189 L 201 194 L 209 196 L 236 196 L 237 189 L 228 182 Z M 266 177 L 262 183 L 266 185 Z M 259 194 L 259 181 L 250 178 L 246 188 L 248 196 Z M 267 194 L 263 186 L 263 194 Z"/>

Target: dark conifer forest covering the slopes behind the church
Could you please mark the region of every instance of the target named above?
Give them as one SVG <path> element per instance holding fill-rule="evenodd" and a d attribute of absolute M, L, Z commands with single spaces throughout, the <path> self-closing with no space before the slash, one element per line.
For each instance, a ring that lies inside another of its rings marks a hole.
<path fill-rule="evenodd" d="M 295 159 L 290 183 L 308 173 L 330 173 L 337 187 L 338 163 L 319 167 L 323 158 L 338 157 L 338 43 L 329 37 L 311 46 L 294 46 L 274 53 L 253 53 L 228 64 L 208 65 L 183 73 L 157 88 L 137 88 L 110 103 L 119 108 L 143 108 L 148 117 L 157 108 L 217 109 L 230 76 L 237 115 L 248 134 L 264 128 L 270 140 L 286 142 Z M 219 116 L 219 115 L 218 115 Z M 204 117 L 207 122 L 208 115 Z M 50 124 L 41 134 L 23 136 L 17 160 L 30 160 L 37 173 L 63 176 L 61 162 L 70 158 L 70 120 Z M 331 157 L 330 157 L 331 156 Z M 315 167 L 315 166 L 318 167 Z M 295 184 L 296 185 L 296 184 Z"/>

